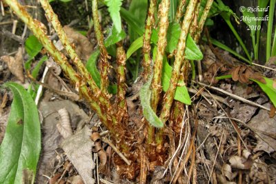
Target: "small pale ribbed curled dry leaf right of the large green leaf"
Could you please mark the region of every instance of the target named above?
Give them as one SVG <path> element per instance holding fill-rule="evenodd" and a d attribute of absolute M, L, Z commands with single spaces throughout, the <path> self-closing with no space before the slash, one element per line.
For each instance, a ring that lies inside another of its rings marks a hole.
<path fill-rule="evenodd" d="M 69 136 L 72 136 L 72 127 L 70 123 L 70 117 L 68 114 L 68 111 L 63 108 L 58 111 L 60 116 L 60 121 L 57 123 L 57 130 L 59 130 L 59 133 L 61 136 L 63 136 L 64 139 L 68 138 Z"/>

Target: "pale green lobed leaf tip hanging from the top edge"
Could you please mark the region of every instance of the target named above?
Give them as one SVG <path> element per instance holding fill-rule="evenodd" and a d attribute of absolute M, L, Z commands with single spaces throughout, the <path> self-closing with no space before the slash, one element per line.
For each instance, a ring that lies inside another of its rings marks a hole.
<path fill-rule="evenodd" d="M 117 32 L 121 32 L 121 16 L 120 16 L 120 8 L 121 1 L 123 0 L 105 0 L 104 2 L 108 6 L 108 12 L 110 13 L 110 17 L 115 25 Z"/>

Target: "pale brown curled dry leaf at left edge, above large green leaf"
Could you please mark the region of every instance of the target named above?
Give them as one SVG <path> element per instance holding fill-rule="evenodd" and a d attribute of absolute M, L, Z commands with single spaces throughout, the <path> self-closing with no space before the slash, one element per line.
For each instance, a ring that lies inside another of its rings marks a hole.
<path fill-rule="evenodd" d="M 0 58 L 1 61 L 4 61 L 8 65 L 8 69 L 14 76 L 21 81 L 21 83 L 25 82 L 25 77 L 23 74 L 23 52 L 22 48 L 18 48 L 17 54 L 15 57 L 10 57 L 8 55 Z"/>

